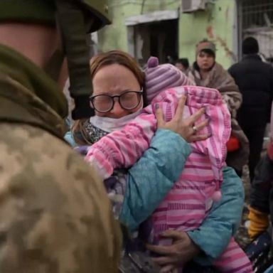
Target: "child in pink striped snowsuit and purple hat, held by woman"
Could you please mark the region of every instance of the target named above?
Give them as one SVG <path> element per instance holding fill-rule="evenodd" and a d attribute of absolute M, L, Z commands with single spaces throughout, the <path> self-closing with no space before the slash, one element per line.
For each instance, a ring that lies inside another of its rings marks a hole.
<path fill-rule="evenodd" d="M 198 133 L 211 134 L 211 137 L 191 143 L 192 153 L 180 178 L 151 216 L 153 240 L 158 244 L 170 243 L 159 237 L 165 230 L 188 231 L 198 228 L 213 202 L 220 199 L 226 143 L 230 137 L 230 113 L 220 92 L 190 85 L 174 87 L 176 75 L 175 67 L 158 65 L 156 59 L 150 58 L 146 69 L 146 88 L 151 105 L 144 108 L 139 117 L 124 129 L 112 132 L 93 144 L 86 156 L 87 161 L 97 166 L 101 176 L 107 178 L 114 168 L 134 165 L 149 148 L 156 130 L 154 113 L 157 106 L 163 110 L 166 122 L 174 116 L 182 95 L 187 96 L 183 112 L 185 117 L 205 107 L 205 115 L 200 118 L 200 122 L 206 118 L 210 122 L 203 132 Z M 185 83 L 188 84 L 188 80 Z M 173 88 L 166 90 L 166 87 Z M 233 237 L 214 265 L 221 272 L 252 272 L 250 260 Z"/>

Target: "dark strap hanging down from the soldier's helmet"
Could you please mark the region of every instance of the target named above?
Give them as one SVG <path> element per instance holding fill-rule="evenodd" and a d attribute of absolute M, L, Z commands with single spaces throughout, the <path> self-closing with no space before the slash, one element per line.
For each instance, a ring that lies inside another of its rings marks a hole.
<path fill-rule="evenodd" d="M 89 103 L 92 79 L 85 18 L 75 2 L 77 1 L 55 0 L 63 51 L 68 58 L 70 96 L 75 100 L 72 117 L 83 119 L 94 115 Z"/>

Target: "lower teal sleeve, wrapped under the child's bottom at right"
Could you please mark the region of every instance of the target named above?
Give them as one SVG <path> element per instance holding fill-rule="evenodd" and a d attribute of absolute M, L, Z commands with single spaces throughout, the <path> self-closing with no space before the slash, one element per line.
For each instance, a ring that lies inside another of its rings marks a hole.
<path fill-rule="evenodd" d="M 203 250 L 203 257 L 196 259 L 202 264 L 210 264 L 221 255 L 241 220 L 245 192 L 241 179 L 230 167 L 223 168 L 221 192 L 221 200 L 213 204 L 202 225 L 187 232 L 191 240 Z"/>

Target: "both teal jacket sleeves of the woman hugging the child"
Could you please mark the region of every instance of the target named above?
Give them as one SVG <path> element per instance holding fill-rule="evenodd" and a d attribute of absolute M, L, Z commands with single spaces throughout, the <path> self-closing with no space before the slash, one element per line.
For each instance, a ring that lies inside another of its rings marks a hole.
<path fill-rule="evenodd" d="M 159 205 L 183 171 L 190 146 L 178 134 L 158 130 L 150 148 L 129 170 L 127 189 L 119 219 L 135 230 Z M 207 218 L 188 236 L 203 250 L 196 260 L 211 264 L 228 246 L 240 223 L 244 203 L 242 181 L 230 167 L 223 168 L 222 198 Z"/>

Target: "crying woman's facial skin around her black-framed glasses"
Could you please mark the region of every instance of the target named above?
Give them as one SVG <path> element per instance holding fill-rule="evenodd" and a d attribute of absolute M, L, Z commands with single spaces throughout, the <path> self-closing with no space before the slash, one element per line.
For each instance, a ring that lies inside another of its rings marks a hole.
<path fill-rule="evenodd" d="M 123 65 L 118 64 L 106 65 L 100 68 L 100 70 L 98 70 L 93 77 L 92 83 L 93 97 L 96 95 L 122 95 L 127 91 L 141 90 L 137 77 L 134 76 L 132 71 Z M 128 100 L 130 100 L 129 95 Z M 137 107 L 129 110 L 122 108 L 121 105 L 119 105 L 119 100 L 117 97 L 115 97 L 114 106 L 109 112 L 101 113 L 95 111 L 95 114 L 100 117 L 112 117 L 114 119 L 119 119 L 120 117 L 125 117 L 128 114 L 137 112 L 137 110 L 141 107 L 143 107 L 142 95 Z"/>

